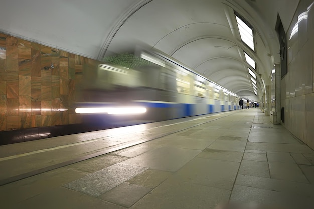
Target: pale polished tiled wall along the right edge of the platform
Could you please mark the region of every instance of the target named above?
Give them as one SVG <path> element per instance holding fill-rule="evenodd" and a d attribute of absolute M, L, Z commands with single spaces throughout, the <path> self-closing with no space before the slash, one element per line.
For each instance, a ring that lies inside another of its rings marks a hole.
<path fill-rule="evenodd" d="M 291 37 L 292 30 L 297 32 Z M 291 37 L 291 38 L 290 38 Z M 314 2 L 300 1 L 287 31 L 288 74 L 282 79 L 284 126 L 314 148 Z"/>

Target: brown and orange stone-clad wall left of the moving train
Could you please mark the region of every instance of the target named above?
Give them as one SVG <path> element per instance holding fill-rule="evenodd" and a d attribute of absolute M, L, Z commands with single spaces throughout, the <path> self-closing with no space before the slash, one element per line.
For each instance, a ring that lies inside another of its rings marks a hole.
<path fill-rule="evenodd" d="M 0 33 L 0 131 L 80 123 L 74 102 L 97 61 Z"/>

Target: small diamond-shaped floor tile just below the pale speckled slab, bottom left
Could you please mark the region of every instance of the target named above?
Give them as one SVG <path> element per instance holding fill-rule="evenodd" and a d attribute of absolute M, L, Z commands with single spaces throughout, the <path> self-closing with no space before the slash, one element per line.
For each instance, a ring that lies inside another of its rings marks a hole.
<path fill-rule="evenodd" d="M 122 183 L 99 198 L 123 207 L 130 207 L 150 191 L 151 189 L 146 187 Z"/>

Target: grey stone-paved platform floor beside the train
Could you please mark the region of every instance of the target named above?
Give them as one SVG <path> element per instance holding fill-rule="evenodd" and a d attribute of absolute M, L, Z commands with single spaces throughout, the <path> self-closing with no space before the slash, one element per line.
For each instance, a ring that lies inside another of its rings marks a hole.
<path fill-rule="evenodd" d="M 314 151 L 259 109 L 0 146 L 0 180 L 106 150 L 0 186 L 0 208 L 314 208 Z"/>

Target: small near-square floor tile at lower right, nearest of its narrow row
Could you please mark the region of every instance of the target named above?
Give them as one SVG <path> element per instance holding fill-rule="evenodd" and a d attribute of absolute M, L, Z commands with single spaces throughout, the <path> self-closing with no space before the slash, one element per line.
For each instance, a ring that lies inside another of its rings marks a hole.
<path fill-rule="evenodd" d="M 239 174 L 252 175 L 269 178 L 269 168 L 267 162 L 242 160 Z"/>

